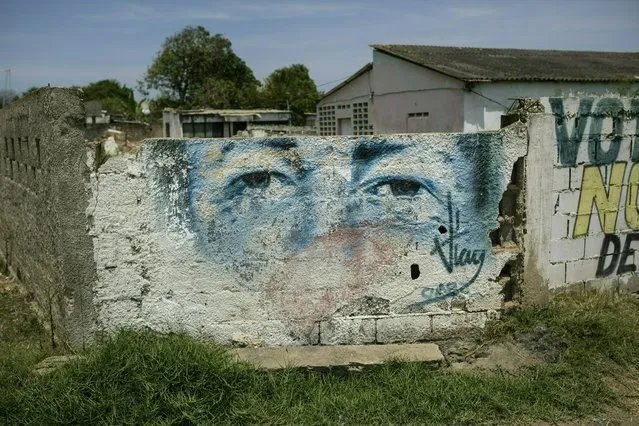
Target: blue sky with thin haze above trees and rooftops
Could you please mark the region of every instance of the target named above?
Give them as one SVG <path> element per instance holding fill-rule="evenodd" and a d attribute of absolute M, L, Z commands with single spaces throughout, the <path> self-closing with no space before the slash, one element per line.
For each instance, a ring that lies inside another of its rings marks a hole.
<path fill-rule="evenodd" d="M 321 90 L 369 62 L 374 43 L 639 51 L 639 0 L 4 0 L 0 70 L 17 92 L 104 78 L 133 87 L 187 25 L 228 37 L 260 80 L 303 63 L 318 85 L 333 82 Z"/>

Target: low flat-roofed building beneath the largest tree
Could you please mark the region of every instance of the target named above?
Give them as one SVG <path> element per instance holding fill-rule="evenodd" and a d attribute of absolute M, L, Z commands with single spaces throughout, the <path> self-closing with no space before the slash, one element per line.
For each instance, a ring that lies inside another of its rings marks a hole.
<path fill-rule="evenodd" d="M 163 113 L 164 136 L 172 138 L 225 138 L 246 130 L 249 123 L 286 125 L 291 112 L 275 109 L 167 108 Z"/>

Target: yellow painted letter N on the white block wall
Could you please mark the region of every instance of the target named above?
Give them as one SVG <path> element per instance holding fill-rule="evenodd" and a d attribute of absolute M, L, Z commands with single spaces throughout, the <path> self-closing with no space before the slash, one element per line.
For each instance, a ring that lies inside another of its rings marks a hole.
<path fill-rule="evenodd" d="M 606 191 L 601 168 L 599 166 L 584 166 L 577 220 L 572 233 L 573 238 L 588 234 L 593 203 L 597 207 L 601 229 L 607 234 L 615 232 L 625 172 L 625 162 L 614 163 L 610 171 L 609 189 Z"/>

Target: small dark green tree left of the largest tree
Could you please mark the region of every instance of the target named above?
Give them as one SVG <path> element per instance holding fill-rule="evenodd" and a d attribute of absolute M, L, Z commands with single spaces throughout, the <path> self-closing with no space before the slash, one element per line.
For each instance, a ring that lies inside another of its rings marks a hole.
<path fill-rule="evenodd" d="M 82 88 L 84 101 L 100 101 L 102 108 L 111 115 L 122 115 L 127 118 L 135 117 L 137 104 L 133 96 L 133 89 L 126 87 L 117 80 L 100 80 Z"/>

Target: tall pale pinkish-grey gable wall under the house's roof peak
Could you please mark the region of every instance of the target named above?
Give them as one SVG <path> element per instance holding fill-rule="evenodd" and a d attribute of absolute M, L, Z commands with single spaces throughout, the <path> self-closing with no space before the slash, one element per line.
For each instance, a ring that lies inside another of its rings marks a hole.
<path fill-rule="evenodd" d="M 375 133 L 407 133 L 409 114 L 424 112 L 422 132 L 464 129 L 463 82 L 377 50 L 373 71 Z"/>

